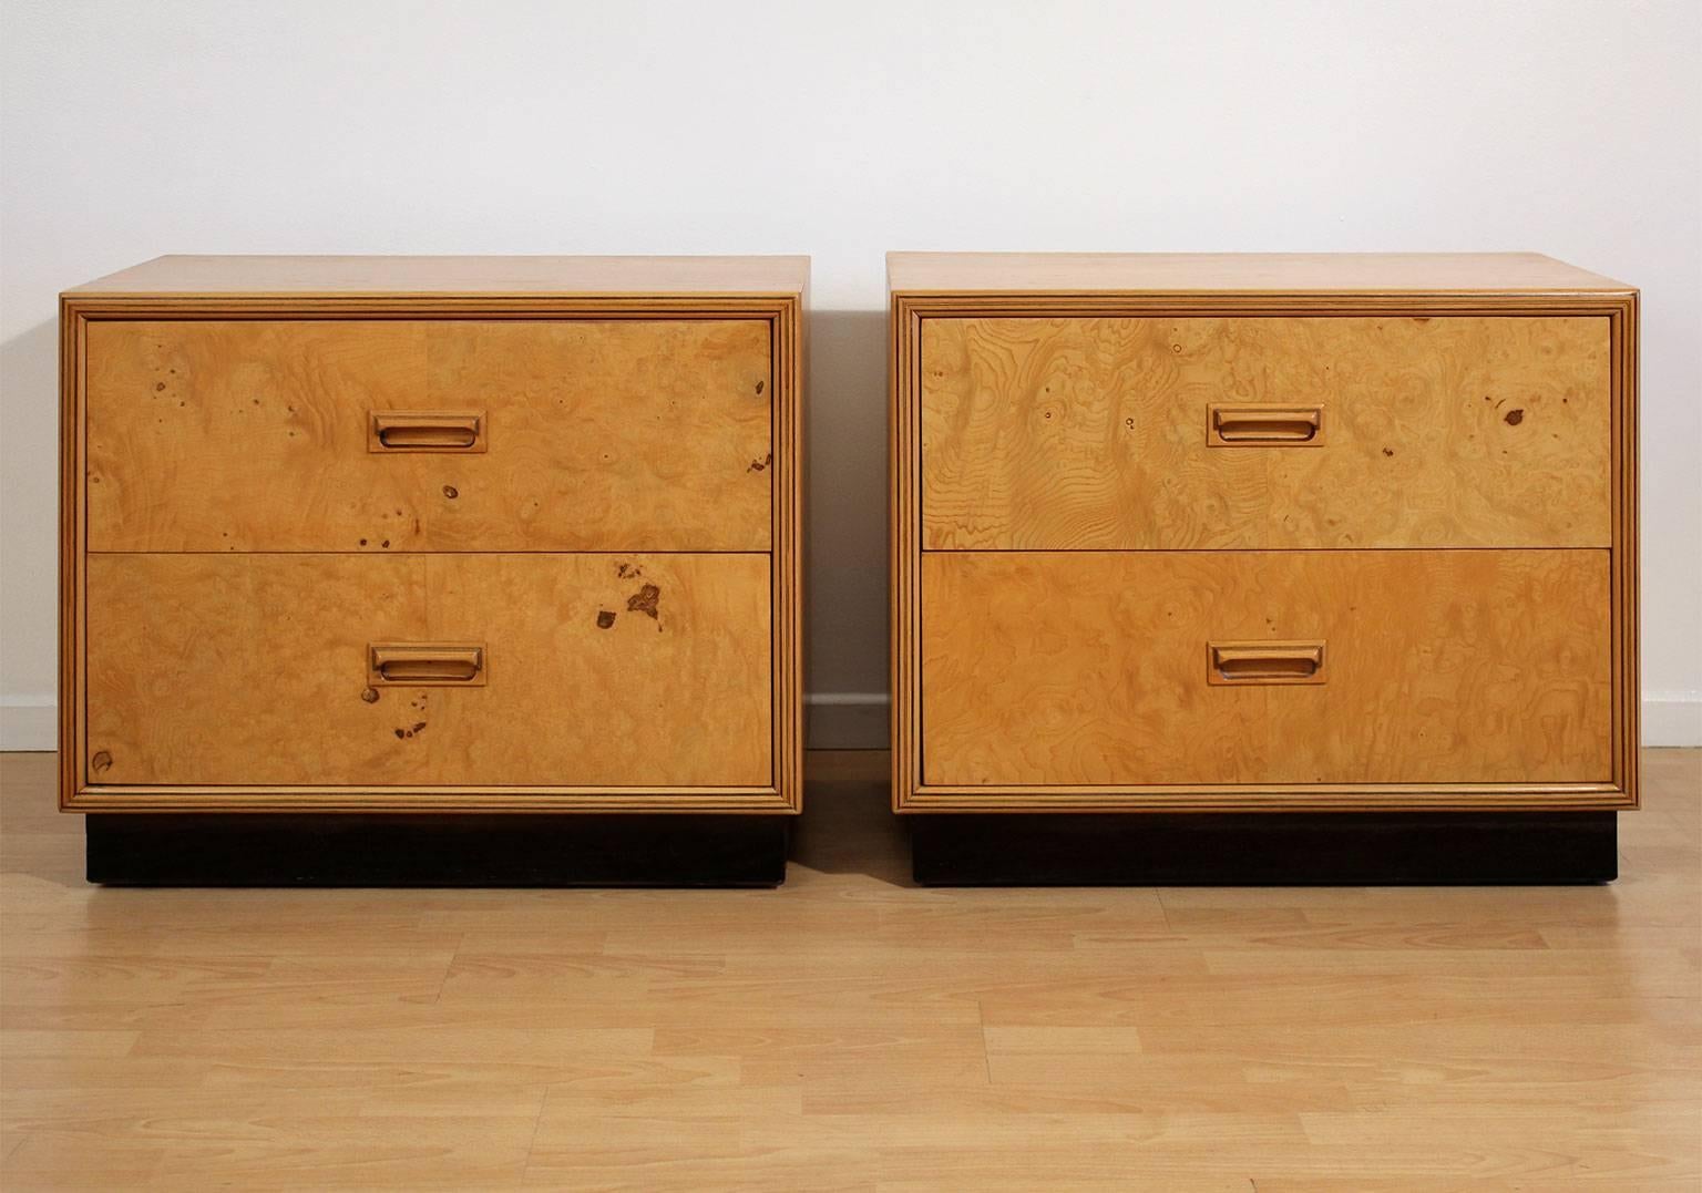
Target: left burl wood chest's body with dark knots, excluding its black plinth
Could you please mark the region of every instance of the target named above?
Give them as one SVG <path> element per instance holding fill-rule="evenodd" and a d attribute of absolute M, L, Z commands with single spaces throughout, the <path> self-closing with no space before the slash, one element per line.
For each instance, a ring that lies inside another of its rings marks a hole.
<path fill-rule="evenodd" d="M 797 812 L 807 269 L 68 291 L 63 807 Z"/>

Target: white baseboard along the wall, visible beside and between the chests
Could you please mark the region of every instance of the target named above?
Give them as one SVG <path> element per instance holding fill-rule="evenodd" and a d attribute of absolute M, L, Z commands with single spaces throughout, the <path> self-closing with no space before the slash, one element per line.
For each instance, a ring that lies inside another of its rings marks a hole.
<path fill-rule="evenodd" d="M 817 751 L 883 751 L 890 710 L 887 693 L 810 693 L 803 698 L 803 740 Z M 0 696 L 0 751 L 51 751 L 58 732 L 51 696 Z M 1649 693 L 1642 744 L 1702 745 L 1702 691 Z"/>

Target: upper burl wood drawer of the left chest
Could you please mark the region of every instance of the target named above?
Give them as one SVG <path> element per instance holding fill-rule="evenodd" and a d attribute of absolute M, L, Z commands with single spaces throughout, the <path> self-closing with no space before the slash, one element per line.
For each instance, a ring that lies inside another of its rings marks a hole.
<path fill-rule="evenodd" d="M 766 320 L 95 320 L 85 368 L 94 551 L 769 550 Z"/>

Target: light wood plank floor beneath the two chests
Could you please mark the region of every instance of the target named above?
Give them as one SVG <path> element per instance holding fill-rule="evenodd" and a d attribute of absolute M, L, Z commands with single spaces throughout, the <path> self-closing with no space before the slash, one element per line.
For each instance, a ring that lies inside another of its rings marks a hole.
<path fill-rule="evenodd" d="M 100 890 L 0 759 L 0 1184 L 1697 1190 L 1702 752 L 1593 888 Z"/>

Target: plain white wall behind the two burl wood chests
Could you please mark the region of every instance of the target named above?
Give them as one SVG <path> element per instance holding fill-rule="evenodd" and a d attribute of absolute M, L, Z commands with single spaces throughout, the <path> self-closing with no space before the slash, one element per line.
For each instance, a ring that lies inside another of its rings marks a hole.
<path fill-rule="evenodd" d="M 0 3 L 5 745 L 51 742 L 54 294 L 162 252 L 812 254 L 812 689 L 878 725 L 888 248 L 1642 286 L 1648 732 L 1702 742 L 1697 0 Z"/>

